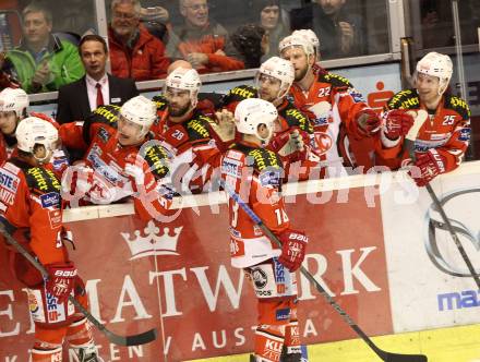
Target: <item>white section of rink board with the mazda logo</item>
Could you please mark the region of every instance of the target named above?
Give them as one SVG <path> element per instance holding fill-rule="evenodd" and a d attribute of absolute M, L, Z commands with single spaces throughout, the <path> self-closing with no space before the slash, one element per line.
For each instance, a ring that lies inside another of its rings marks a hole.
<path fill-rule="evenodd" d="M 459 238 L 472 264 L 480 265 L 480 253 L 475 246 L 478 248 L 480 236 L 480 192 L 471 192 L 480 190 L 480 164 L 464 164 L 460 170 L 443 176 L 432 185 L 440 200 L 452 192 L 470 191 L 448 201 L 444 209 L 454 226 L 460 227 L 456 224 L 459 221 L 461 229 L 471 234 L 470 240 L 461 232 Z M 400 190 L 398 183 L 392 185 L 395 190 Z M 467 267 L 446 230 L 436 231 L 436 239 L 429 238 L 430 216 L 442 219 L 437 213 L 429 214 L 432 201 L 427 190 L 422 189 L 418 202 L 410 205 L 395 203 L 392 191 L 383 194 L 381 201 L 395 333 L 479 323 L 480 303 L 473 279 L 441 270 L 459 268 L 467 273 Z M 433 240 L 440 260 L 429 256 Z M 439 294 L 445 293 L 458 294 L 445 295 L 440 303 Z"/>

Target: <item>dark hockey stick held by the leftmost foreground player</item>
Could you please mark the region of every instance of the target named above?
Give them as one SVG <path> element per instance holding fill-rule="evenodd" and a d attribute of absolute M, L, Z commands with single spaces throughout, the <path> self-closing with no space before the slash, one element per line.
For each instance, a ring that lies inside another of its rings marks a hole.
<path fill-rule="evenodd" d="M 40 272 L 41 276 L 44 278 L 48 278 L 48 272 L 34 256 L 32 256 L 31 253 L 22 245 L 20 244 L 7 230 L 3 222 L 0 221 L 0 233 L 7 239 L 9 244 L 14 246 L 31 264 Z M 85 315 L 85 317 L 95 326 L 97 327 L 107 338 L 110 342 L 118 346 L 140 346 L 149 343 L 151 341 L 154 341 L 157 338 L 157 330 L 151 329 L 144 333 L 141 333 L 139 335 L 131 335 L 131 336 L 119 336 L 112 333 L 111 330 L 107 329 L 107 327 L 101 324 L 97 318 L 95 318 L 72 295 L 69 295 L 69 302 L 73 303 L 79 311 Z"/>

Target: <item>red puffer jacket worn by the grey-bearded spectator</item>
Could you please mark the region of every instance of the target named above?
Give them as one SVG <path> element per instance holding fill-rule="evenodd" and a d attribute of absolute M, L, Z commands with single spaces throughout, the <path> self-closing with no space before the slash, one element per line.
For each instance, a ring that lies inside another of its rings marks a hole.
<path fill-rule="evenodd" d="M 135 46 L 129 49 L 108 29 L 111 73 L 119 77 L 148 81 L 165 77 L 170 60 L 165 57 L 164 44 L 139 25 L 140 34 Z"/>

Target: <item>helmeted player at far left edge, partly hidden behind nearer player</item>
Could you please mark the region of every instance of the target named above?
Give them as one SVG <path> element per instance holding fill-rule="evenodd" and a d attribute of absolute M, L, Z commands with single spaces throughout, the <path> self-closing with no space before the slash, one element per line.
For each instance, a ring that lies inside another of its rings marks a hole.
<path fill-rule="evenodd" d="M 29 112 L 27 114 L 26 108 L 28 105 L 28 96 L 21 88 L 4 88 L 0 92 L 0 160 L 9 158 L 9 155 L 15 152 L 16 125 L 25 117 L 38 117 L 53 124 L 55 128 L 59 128 L 59 124 L 53 119 L 44 113 Z M 57 178 L 61 178 L 63 170 L 68 166 L 68 155 L 61 144 L 58 143 L 50 162 L 45 165 L 45 167 L 53 171 Z"/>

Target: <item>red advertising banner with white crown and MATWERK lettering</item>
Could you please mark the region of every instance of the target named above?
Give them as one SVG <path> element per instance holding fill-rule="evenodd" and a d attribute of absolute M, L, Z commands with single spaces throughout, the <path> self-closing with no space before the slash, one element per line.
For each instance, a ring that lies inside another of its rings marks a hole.
<path fill-rule="evenodd" d="M 305 266 L 370 336 L 393 331 L 380 200 L 363 188 L 289 196 L 292 225 L 310 237 Z M 370 207 L 369 207 L 370 206 Z M 142 347 L 117 347 L 98 331 L 106 361 L 183 361 L 253 350 L 255 297 L 229 260 L 226 204 L 184 208 L 168 225 L 133 215 L 74 221 L 71 251 L 87 281 L 92 313 L 120 335 L 157 328 Z M 23 287 L 0 253 L 0 361 L 27 361 L 33 324 Z M 299 277 L 307 345 L 355 338 Z"/>

